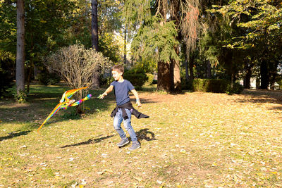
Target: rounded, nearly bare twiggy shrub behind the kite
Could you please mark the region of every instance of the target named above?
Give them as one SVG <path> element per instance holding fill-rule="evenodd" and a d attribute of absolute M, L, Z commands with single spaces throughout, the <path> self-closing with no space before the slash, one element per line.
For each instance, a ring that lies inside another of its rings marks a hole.
<path fill-rule="evenodd" d="M 107 70 L 111 63 L 109 58 L 105 58 L 101 52 L 94 49 L 85 49 L 84 46 L 74 44 L 66 46 L 54 54 L 44 58 L 50 72 L 55 72 L 68 84 L 69 87 L 76 89 L 80 87 L 92 87 L 93 73 L 98 76 Z M 78 92 L 79 99 L 82 99 L 82 91 Z M 78 106 L 78 113 L 81 112 Z"/>

